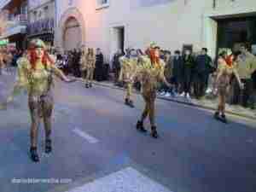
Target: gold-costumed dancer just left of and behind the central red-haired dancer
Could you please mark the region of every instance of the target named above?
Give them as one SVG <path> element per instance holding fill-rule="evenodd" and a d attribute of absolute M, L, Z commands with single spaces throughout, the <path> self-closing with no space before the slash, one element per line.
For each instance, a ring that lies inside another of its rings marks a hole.
<path fill-rule="evenodd" d="M 119 58 L 121 64 L 121 71 L 119 75 L 119 81 L 123 81 L 126 87 L 125 105 L 134 108 L 132 97 L 132 86 L 137 73 L 137 51 L 135 49 L 129 49 L 125 56 Z"/>

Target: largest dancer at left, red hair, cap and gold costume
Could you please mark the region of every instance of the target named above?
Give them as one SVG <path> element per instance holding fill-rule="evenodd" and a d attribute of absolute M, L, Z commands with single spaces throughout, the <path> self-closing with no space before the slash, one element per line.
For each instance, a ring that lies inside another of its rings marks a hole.
<path fill-rule="evenodd" d="M 31 41 L 26 55 L 23 55 L 17 61 L 17 64 L 18 73 L 15 87 L 5 105 L 7 107 L 7 104 L 20 94 L 20 90 L 27 91 L 28 106 L 32 120 L 30 154 L 32 161 L 38 162 L 38 125 L 41 119 L 44 119 L 45 153 L 49 154 L 52 151 L 50 135 L 51 116 L 54 106 L 52 96 L 53 75 L 67 83 L 73 82 L 74 79 L 67 79 L 61 70 L 55 67 L 54 61 L 45 51 L 44 42 L 40 39 Z"/>

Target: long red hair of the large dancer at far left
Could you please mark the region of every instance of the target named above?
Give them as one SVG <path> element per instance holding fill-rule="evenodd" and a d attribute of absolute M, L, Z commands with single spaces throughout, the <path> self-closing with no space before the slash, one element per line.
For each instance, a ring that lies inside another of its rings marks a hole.
<path fill-rule="evenodd" d="M 29 56 L 29 61 L 32 65 L 32 69 L 35 69 L 36 65 L 37 65 L 37 61 L 38 61 L 38 54 L 36 52 L 36 49 L 35 48 L 29 49 L 28 56 Z M 50 59 L 48 53 L 44 50 L 43 57 L 42 57 L 42 63 L 44 64 L 44 66 L 47 66 L 48 62 L 50 64 L 54 64 L 54 61 L 52 61 Z"/>

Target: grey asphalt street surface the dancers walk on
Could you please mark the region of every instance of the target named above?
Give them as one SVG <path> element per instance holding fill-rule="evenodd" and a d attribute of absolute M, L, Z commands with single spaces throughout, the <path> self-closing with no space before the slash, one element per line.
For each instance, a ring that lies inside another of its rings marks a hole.
<path fill-rule="evenodd" d="M 0 102 L 14 75 L 0 76 Z M 82 82 L 55 84 L 53 153 L 29 159 L 26 94 L 0 111 L 0 192 L 255 192 L 256 121 L 157 100 L 159 139 L 135 129 L 143 99 Z M 145 124 L 149 131 L 148 121 Z M 255 154 L 254 154 L 255 153 Z"/>

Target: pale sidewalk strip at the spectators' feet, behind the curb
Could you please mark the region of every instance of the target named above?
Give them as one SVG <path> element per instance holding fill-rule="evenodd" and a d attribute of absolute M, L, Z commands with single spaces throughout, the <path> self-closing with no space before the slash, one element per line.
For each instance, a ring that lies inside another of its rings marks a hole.
<path fill-rule="evenodd" d="M 83 81 L 83 79 L 79 78 L 79 81 Z M 124 90 L 124 88 L 120 88 L 118 86 L 113 85 L 112 82 L 109 81 L 103 81 L 103 82 L 93 82 L 96 85 L 101 85 L 101 86 L 105 86 L 105 87 L 109 87 L 112 89 L 118 89 L 118 90 Z M 135 91 L 137 94 L 139 94 L 138 91 Z M 177 97 L 166 97 L 166 96 L 157 96 L 157 98 L 162 99 L 162 100 L 166 100 L 166 101 L 170 101 L 170 102 L 179 102 L 179 103 L 183 103 L 186 105 L 190 105 L 190 106 L 194 106 L 196 108 L 205 108 L 205 109 L 210 109 L 210 110 L 215 110 L 216 106 L 217 106 L 217 99 L 214 100 L 209 100 L 209 99 L 203 99 L 203 100 L 197 100 L 197 99 L 186 99 L 184 97 L 181 96 L 177 96 Z M 239 105 L 226 105 L 226 113 L 230 113 L 236 116 L 240 116 L 240 117 L 244 117 L 247 119 L 256 119 L 256 110 L 252 110 L 249 108 L 243 108 Z"/>

